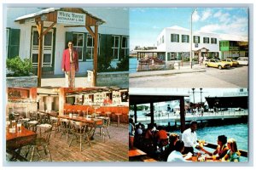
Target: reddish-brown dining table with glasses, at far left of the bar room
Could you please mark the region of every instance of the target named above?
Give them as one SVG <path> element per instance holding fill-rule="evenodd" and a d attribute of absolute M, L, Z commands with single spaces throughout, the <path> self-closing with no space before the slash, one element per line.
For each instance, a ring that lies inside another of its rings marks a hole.
<path fill-rule="evenodd" d="M 32 144 L 37 138 L 37 133 L 21 126 L 21 132 L 17 132 L 17 127 L 6 127 L 6 152 L 12 155 L 10 161 L 15 159 L 27 161 L 26 157 L 20 156 L 20 150 L 23 146 Z"/>

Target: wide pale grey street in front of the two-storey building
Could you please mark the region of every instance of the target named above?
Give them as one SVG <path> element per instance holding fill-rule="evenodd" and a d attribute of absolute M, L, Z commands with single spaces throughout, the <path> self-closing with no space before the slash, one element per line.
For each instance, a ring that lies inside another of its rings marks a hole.
<path fill-rule="evenodd" d="M 218 70 L 207 67 L 206 71 L 174 75 L 134 77 L 129 79 L 130 88 L 247 88 L 248 66 Z"/>

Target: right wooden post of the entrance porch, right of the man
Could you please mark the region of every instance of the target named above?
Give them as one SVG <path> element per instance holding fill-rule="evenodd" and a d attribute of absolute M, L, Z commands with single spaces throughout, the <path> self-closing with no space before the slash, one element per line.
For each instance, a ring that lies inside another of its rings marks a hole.
<path fill-rule="evenodd" d="M 94 31 L 94 48 L 93 48 L 93 75 L 94 75 L 94 82 L 93 86 L 96 87 L 97 85 L 97 64 L 98 64 L 98 26 L 95 26 Z"/>

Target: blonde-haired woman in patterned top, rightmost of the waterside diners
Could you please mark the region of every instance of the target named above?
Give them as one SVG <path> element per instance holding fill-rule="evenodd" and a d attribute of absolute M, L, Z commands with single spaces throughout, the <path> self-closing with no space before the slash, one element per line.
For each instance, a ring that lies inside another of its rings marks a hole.
<path fill-rule="evenodd" d="M 222 161 L 240 161 L 241 153 L 237 149 L 236 140 L 229 139 L 228 140 L 228 148 L 227 154 L 222 158 Z"/>

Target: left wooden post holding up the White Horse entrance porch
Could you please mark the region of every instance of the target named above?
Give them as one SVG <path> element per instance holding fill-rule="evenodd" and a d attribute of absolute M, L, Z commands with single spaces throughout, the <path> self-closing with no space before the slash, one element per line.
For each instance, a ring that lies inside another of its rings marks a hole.
<path fill-rule="evenodd" d="M 43 29 L 44 21 L 40 20 L 37 22 L 38 28 L 38 87 L 41 87 L 41 78 L 42 78 L 42 54 L 43 54 Z"/>

